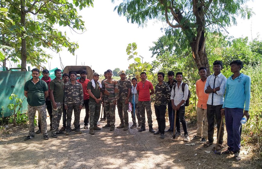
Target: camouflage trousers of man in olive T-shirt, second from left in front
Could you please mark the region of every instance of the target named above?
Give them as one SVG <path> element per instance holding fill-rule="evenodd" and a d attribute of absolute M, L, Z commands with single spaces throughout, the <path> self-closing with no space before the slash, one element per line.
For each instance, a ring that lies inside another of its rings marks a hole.
<path fill-rule="evenodd" d="M 63 104 L 61 102 L 56 102 L 56 109 L 54 109 L 53 107 L 53 103 L 52 104 L 52 134 L 58 132 L 58 128 L 59 128 L 59 123 L 62 117 L 62 112 L 63 112 Z"/>

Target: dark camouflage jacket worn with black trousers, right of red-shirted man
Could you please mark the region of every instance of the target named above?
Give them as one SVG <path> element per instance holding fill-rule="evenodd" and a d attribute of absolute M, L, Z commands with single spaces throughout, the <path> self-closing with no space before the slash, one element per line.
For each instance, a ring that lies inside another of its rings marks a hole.
<path fill-rule="evenodd" d="M 156 106 L 161 106 L 161 105 L 166 105 L 168 102 L 170 102 L 170 96 L 171 96 L 171 91 L 165 82 L 161 85 L 156 85 L 155 86 L 155 105 Z"/>

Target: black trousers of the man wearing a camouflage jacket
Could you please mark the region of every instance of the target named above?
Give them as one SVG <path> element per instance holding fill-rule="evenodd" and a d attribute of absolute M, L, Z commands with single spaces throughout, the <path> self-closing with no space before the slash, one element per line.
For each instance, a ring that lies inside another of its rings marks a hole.
<path fill-rule="evenodd" d="M 165 120 L 165 114 L 166 114 L 166 105 L 156 106 L 155 107 L 155 116 L 158 124 L 158 131 L 160 133 L 165 133 L 166 128 L 166 120 Z"/>

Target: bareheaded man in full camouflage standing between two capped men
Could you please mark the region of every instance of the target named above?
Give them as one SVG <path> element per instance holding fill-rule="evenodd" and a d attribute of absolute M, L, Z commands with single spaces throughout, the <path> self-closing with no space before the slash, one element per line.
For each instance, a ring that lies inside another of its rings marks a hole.
<path fill-rule="evenodd" d="M 103 128 L 110 127 L 110 131 L 115 129 L 115 111 L 117 104 L 117 81 L 112 79 L 112 70 L 107 70 L 107 79 L 102 83 L 102 92 L 104 92 L 104 108 L 107 116 L 107 124 Z"/>

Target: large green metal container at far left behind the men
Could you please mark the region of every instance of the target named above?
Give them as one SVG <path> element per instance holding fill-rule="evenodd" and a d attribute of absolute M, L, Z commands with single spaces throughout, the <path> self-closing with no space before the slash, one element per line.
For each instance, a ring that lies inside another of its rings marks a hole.
<path fill-rule="evenodd" d="M 13 100 L 9 100 L 9 96 L 14 93 L 19 98 L 23 99 L 24 96 L 24 84 L 31 79 L 31 72 L 21 71 L 0 71 L 0 108 L 5 108 L 4 116 L 11 116 L 10 110 L 7 105 L 14 103 Z M 22 113 L 27 112 L 26 97 L 23 101 Z"/>

